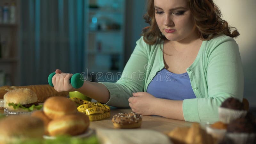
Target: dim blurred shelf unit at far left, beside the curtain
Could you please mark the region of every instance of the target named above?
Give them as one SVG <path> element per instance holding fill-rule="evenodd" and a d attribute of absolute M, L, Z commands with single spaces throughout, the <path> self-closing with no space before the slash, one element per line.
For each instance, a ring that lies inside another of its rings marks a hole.
<path fill-rule="evenodd" d="M 0 6 L 3 9 L 14 2 L 15 8 L 15 23 L 3 23 L 0 21 L 0 36 L 1 36 L 1 56 L 0 56 L 0 86 L 3 85 L 19 85 L 19 5 L 20 0 L 1 0 Z M 1 9 L 1 10 L 2 10 Z M 9 9 L 10 13 L 10 9 Z M 2 12 L 3 14 L 3 12 Z"/>

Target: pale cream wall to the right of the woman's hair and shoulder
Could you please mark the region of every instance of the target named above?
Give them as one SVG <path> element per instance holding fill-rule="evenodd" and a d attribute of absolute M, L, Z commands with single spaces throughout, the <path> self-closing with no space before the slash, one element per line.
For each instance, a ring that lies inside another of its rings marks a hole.
<path fill-rule="evenodd" d="M 244 98 L 250 107 L 256 107 L 256 1 L 214 0 L 222 12 L 223 19 L 236 27 L 240 33 L 235 40 L 244 68 Z"/>

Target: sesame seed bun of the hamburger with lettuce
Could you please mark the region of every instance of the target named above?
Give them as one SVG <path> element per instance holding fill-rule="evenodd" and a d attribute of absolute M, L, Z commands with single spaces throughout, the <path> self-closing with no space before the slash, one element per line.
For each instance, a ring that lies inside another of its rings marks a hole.
<path fill-rule="evenodd" d="M 8 108 L 12 111 L 27 111 L 22 108 L 14 109 L 13 106 L 9 106 L 9 103 L 14 104 L 31 104 L 37 102 L 36 93 L 28 88 L 14 89 L 4 94 L 4 108 Z"/>

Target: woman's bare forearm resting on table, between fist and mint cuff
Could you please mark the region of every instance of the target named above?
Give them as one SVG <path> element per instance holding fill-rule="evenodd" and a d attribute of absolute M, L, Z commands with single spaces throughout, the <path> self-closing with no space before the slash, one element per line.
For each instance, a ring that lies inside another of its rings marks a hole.
<path fill-rule="evenodd" d="M 183 100 L 156 99 L 154 115 L 185 120 L 182 111 Z"/>

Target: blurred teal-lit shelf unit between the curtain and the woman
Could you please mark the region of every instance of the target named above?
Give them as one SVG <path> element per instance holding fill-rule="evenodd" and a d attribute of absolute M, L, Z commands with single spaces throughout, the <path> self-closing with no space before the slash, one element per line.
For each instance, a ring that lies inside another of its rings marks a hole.
<path fill-rule="evenodd" d="M 87 6 L 85 68 L 94 82 L 115 82 L 124 68 L 125 0 L 89 0 Z"/>

